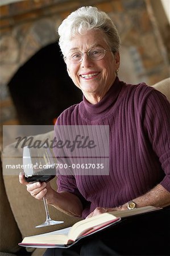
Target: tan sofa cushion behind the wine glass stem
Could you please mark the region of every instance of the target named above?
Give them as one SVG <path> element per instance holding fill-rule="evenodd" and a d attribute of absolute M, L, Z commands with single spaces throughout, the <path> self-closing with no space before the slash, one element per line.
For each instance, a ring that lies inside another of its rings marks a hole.
<path fill-rule="evenodd" d="M 45 140 L 45 138 L 49 138 L 49 140 L 52 139 L 53 131 L 46 134 L 36 135 L 34 137 L 35 140 Z M 18 174 L 20 170 L 13 170 L 15 172 L 15 175 L 7 175 L 8 170 L 6 170 L 6 164 L 22 164 L 22 157 L 18 157 L 19 153 L 22 156 L 22 148 L 16 149 L 15 143 L 10 144 L 3 150 L 2 159 L 3 179 L 5 182 L 7 196 L 22 236 L 26 237 L 34 234 L 51 232 L 53 230 L 66 228 L 80 220 L 80 218 L 70 217 L 67 214 L 62 213 L 56 208 L 49 205 L 49 213 L 51 217 L 55 220 L 63 220 L 64 224 L 53 225 L 38 229 L 35 228 L 36 225 L 41 224 L 45 221 L 45 209 L 43 201 L 34 199 L 34 197 L 32 197 L 30 193 L 27 192 L 26 186 L 19 183 Z M 16 158 L 10 158 L 10 156 L 15 156 L 15 154 Z M 50 182 L 52 184 L 52 187 L 57 189 L 56 179 L 53 179 Z"/>

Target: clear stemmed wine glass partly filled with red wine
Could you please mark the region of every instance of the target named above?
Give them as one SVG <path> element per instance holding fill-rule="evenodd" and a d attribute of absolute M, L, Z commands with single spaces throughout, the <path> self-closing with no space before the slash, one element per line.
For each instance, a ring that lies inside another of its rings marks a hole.
<path fill-rule="evenodd" d="M 55 162 L 53 161 L 49 148 L 46 148 L 45 145 L 40 148 L 25 146 L 23 148 L 23 167 L 25 179 L 30 183 L 34 183 L 36 181 L 48 182 L 56 176 Z M 51 220 L 45 196 L 43 197 L 43 201 L 46 221 L 43 224 L 36 226 L 36 228 L 63 223 L 64 221 Z"/>

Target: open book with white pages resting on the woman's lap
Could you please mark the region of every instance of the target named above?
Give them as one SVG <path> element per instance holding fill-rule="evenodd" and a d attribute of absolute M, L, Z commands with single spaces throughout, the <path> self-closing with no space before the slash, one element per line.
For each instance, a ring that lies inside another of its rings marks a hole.
<path fill-rule="evenodd" d="M 27 247 L 68 247 L 80 238 L 89 236 L 99 230 L 114 225 L 123 217 L 151 212 L 160 208 L 141 207 L 133 210 L 118 210 L 102 213 L 97 216 L 78 221 L 71 228 L 57 230 L 36 236 L 25 237 L 19 245 Z"/>

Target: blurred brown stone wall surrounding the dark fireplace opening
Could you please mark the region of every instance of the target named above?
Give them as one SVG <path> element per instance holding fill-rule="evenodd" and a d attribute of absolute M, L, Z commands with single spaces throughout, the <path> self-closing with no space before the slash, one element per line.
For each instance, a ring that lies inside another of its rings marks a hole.
<path fill-rule="evenodd" d="M 149 0 L 28 0 L 1 6 L 1 125 L 16 124 L 7 84 L 39 49 L 57 41 L 57 27 L 71 11 L 97 6 L 114 20 L 122 40 L 119 78 L 154 84 L 169 76 L 169 60 Z"/>

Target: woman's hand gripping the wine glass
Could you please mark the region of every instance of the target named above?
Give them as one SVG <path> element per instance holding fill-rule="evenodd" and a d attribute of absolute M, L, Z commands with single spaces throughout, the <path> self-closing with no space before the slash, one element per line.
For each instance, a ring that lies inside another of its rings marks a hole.
<path fill-rule="evenodd" d="M 39 181 L 35 183 L 28 183 L 25 180 L 23 172 L 19 174 L 19 182 L 23 185 L 26 185 L 27 191 L 31 194 L 31 196 L 34 196 L 38 200 L 42 200 L 45 196 L 47 201 L 49 200 L 50 192 L 52 191 L 49 183 L 40 183 Z"/>

